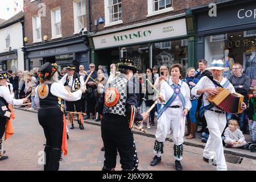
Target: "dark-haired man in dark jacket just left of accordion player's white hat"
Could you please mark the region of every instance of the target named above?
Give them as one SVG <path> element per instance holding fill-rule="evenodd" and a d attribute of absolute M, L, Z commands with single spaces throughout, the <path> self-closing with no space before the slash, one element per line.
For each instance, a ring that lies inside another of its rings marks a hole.
<path fill-rule="evenodd" d="M 195 72 L 195 74 L 196 74 L 195 78 L 197 78 L 198 80 L 200 80 L 201 77 L 203 77 L 203 76 L 212 74 L 208 70 L 206 70 L 207 60 L 201 59 L 201 60 L 197 61 L 197 66 L 198 66 L 198 69 Z M 200 107 L 203 105 L 202 100 L 203 100 L 203 94 L 202 94 L 202 96 L 199 97 L 198 104 L 197 104 L 197 111 L 199 111 Z M 207 122 L 205 120 L 204 115 L 202 117 L 199 116 L 197 118 L 198 118 L 199 122 L 202 124 L 202 129 L 200 131 L 196 131 L 196 134 L 202 134 L 205 131 L 205 128 L 207 127 Z M 197 123 L 197 126 L 199 125 L 199 122 Z"/>

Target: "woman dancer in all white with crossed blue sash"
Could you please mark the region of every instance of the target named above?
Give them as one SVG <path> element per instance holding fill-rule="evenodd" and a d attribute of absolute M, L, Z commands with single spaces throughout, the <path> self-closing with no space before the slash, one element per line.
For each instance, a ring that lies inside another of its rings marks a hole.
<path fill-rule="evenodd" d="M 155 156 L 150 163 L 155 166 L 162 159 L 163 143 L 172 130 L 174 141 L 174 159 L 177 171 L 182 171 L 180 160 L 183 156 L 183 137 L 185 133 L 185 115 L 191 108 L 190 90 L 188 85 L 180 80 L 183 68 L 180 64 L 171 67 L 171 77 L 163 82 L 160 88 L 159 100 L 162 104 L 158 114 L 158 128 L 155 133 Z M 163 100 L 166 104 L 163 105 Z"/>

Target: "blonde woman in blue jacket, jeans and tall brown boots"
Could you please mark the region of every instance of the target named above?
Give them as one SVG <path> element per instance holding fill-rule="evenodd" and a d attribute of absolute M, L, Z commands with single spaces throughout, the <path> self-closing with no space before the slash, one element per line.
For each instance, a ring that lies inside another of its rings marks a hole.
<path fill-rule="evenodd" d="M 188 86 L 189 89 L 191 90 L 199 81 L 197 78 L 195 78 L 195 68 L 188 68 L 187 71 L 187 76 L 186 78 L 183 80 L 185 81 Z M 187 132 L 185 133 L 185 136 L 187 139 L 192 139 L 196 137 L 196 108 L 197 108 L 197 104 L 198 104 L 198 97 L 197 96 L 193 96 L 191 94 L 190 97 L 190 101 L 192 104 L 191 109 L 188 111 L 188 115 L 187 115 Z"/>

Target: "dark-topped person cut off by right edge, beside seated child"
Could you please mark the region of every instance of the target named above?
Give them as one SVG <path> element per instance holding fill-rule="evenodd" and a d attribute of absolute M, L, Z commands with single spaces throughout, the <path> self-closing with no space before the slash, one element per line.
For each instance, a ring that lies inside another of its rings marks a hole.
<path fill-rule="evenodd" d="M 256 86 L 253 87 L 253 97 L 250 98 L 248 110 L 251 141 L 256 144 Z"/>

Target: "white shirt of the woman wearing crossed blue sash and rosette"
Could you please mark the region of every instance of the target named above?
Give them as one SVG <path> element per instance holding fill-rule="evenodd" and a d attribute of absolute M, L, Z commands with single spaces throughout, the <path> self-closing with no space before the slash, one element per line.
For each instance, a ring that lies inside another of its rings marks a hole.
<path fill-rule="evenodd" d="M 167 81 L 164 81 L 161 85 L 161 91 L 160 94 L 163 96 L 164 100 L 166 100 L 166 102 L 172 97 L 172 95 L 174 94 L 174 89 L 171 88 L 171 85 L 174 84 L 174 82 L 172 82 L 171 77 L 169 77 L 170 79 Z M 181 84 L 182 83 L 182 84 Z M 185 106 L 184 109 L 187 108 L 188 110 L 191 108 L 191 101 L 190 101 L 190 90 L 188 85 L 184 82 L 179 80 L 179 85 L 181 85 L 180 87 L 180 92 L 183 94 L 184 98 L 185 98 Z M 162 103 L 163 104 L 163 103 Z M 172 104 L 170 106 L 181 106 L 182 102 L 180 101 L 179 96 L 177 96 L 175 98 L 175 100 L 172 102 Z"/>

